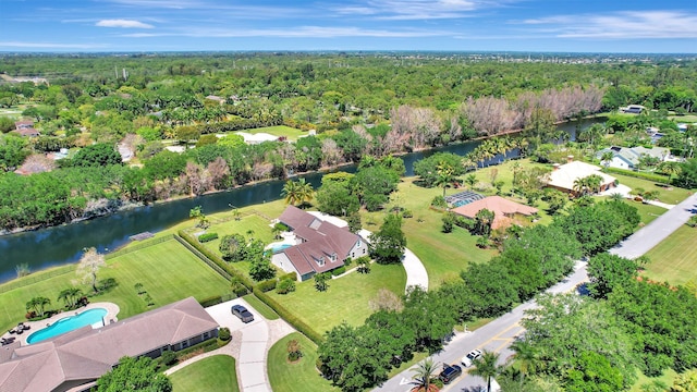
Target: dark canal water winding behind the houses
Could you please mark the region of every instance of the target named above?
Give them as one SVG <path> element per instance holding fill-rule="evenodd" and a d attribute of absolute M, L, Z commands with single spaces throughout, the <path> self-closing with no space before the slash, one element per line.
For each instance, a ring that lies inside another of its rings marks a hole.
<path fill-rule="evenodd" d="M 559 127 L 570 133 L 574 139 L 578 130 L 601 121 L 603 120 L 585 119 L 564 123 Z M 406 175 L 414 175 L 414 162 L 419 159 L 439 151 L 464 156 L 479 143 L 469 142 L 404 155 L 401 158 L 404 159 Z M 501 158 L 494 157 L 492 161 L 499 159 Z M 355 172 L 356 168 L 350 166 L 340 170 Z M 303 177 L 317 188 L 323 174 L 310 173 Z M 277 200 L 281 197 L 284 183 L 269 181 L 196 198 L 138 207 L 77 223 L 0 236 L 0 283 L 16 278 L 15 266 L 20 264 L 26 264 L 32 271 L 38 271 L 75 262 L 87 247 L 96 247 L 100 253 L 106 253 L 126 244 L 131 235 L 158 232 L 188 219 L 189 210 L 196 206 L 201 206 L 205 213 L 215 213 L 229 210 L 230 206 L 245 207 Z"/>

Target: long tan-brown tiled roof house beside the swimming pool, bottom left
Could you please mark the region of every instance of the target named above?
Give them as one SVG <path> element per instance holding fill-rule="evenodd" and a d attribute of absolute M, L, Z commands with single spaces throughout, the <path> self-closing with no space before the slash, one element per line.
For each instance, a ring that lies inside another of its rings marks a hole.
<path fill-rule="evenodd" d="M 87 391 L 123 356 L 157 358 L 218 336 L 218 323 L 188 297 L 99 329 L 87 326 L 30 345 L 0 348 L 0 391 Z"/>

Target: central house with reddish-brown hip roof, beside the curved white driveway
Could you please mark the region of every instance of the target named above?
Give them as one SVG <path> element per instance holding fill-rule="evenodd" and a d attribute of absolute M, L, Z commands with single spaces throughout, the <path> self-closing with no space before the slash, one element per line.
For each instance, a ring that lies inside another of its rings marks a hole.
<path fill-rule="evenodd" d="M 297 207 L 289 206 L 279 221 L 292 230 L 295 241 L 274 253 L 271 262 L 286 272 L 295 272 L 298 281 L 339 268 L 350 257 L 367 255 L 368 245 L 360 235 Z"/>

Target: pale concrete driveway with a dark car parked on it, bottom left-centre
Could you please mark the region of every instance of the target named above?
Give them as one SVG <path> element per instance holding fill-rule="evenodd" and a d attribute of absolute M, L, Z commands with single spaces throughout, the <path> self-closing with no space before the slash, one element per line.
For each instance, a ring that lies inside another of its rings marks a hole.
<path fill-rule="evenodd" d="M 230 307 L 242 305 L 254 314 L 254 321 L 242 323 L 232 316 Z M 282 319 L 268 320 L 254 311 L 244 299 L 236 298 L 219 305 L 206 308 L 206 311 L 220 324 L 232 332 L 232 342 L 224 347 L 195 356 L 170 369 L 164 373 L 188 366 L 197 360 L 213 355 L 230 355 L 236 360 L 237 383 L 242 392 L 271 392 L 271 384 L 267 373 L 267 355 L 271 346 L 289 333 L 295 330 Z"/>

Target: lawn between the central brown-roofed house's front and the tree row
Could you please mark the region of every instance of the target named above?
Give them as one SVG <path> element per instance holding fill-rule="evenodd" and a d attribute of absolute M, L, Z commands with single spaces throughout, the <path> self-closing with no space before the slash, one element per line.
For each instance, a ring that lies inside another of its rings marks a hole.
<path fill-rule="evenodd" d="M 294 293 L 280 295 L 269 292 L 293 315 L 307 322 L 317 332 L 323 333 L 339 326 L 343 320 L 352 326 L 360 326 L 372 313 L 368 302 L 376 297 L 380 289 L 388 289 L 398 295 L 404 293 L 406 273 L 401 265 L 380 266 L 374 264 L 370 273 L 350 273 L 329 282 L 326 292 L 315 290 L 314 280 L 297 283 Z"/>

